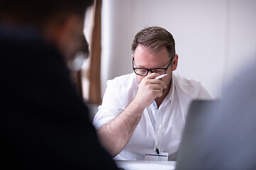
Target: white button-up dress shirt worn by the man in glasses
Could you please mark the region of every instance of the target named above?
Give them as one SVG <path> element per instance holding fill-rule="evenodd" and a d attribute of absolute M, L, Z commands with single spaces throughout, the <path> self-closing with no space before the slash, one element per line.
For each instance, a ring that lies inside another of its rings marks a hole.
<path fill-rule="evenodd" d="M 136 74 L 126 74 L 107 81 L 102 105 L 93 120 L 96 129 L 113 120 L 129 105 L 138 90 Z M 168 152 L 176 159 L 185 125 L 188 106 L 193 99 L 210 99 L 200 82 L 173 73 L 171 89 L 159 108 L 152 103 L 144 109 L 141 120 L 126 147 L 114 159 L 144 159 L 146 153 Z"/>

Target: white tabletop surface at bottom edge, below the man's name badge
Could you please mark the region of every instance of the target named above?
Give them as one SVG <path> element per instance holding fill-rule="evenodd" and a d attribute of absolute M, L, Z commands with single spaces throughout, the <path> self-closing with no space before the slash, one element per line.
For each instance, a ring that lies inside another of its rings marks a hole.
<path fill-rule="evenodd" d="M 171 170 L 175 169 L 176 162 L 173 161 L 115 161 L 118 168 L 124 170 Z"/>

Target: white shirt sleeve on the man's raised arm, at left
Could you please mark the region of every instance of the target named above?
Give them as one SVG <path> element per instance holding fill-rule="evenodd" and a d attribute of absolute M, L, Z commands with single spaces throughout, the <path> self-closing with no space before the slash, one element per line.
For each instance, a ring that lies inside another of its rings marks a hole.
<path fill-rule="evenodd" d="M 134 73 L 107 81 L 102 105 L 93 120 L 96 129 L 117 117 L 131 103 L 137 94 L 137 79 Z"/>

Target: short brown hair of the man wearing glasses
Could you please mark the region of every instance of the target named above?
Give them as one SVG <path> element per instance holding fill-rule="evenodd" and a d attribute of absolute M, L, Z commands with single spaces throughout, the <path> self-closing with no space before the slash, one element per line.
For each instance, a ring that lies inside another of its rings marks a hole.
<path fill-rule="evenodd" d="M 140 30 L 139 33 L 135 35 L 132 42 L 132 54 L 134 54 L 139 44 L 153 50 L 154 52 L 166 47 L 170 58 L 173 58 L 176 54 L 173 35 L 161 27 L 154 26 Z"/>

